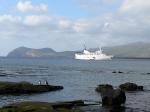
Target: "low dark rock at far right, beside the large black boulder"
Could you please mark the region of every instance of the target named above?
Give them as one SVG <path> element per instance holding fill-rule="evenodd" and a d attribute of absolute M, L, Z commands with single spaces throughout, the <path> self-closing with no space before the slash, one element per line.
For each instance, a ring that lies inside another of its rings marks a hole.
<path fill-rule="evenodd" d="M 120 89 L 124 91 L 143 91 L 143 86 L 138 86 L 135 83 L 124 83 L 119 86 Z"/>

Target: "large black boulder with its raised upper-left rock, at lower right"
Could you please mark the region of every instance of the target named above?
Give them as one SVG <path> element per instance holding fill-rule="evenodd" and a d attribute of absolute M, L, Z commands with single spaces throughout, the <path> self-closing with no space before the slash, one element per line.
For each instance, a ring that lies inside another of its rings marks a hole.
<path fill-rule="evenodd" d="M 121 106 L 126 101 L 125 92 L 121 89 L 113 89 L 111 85 L 99 85 L 96 91 L 101 94 L 103 106 Z"/>

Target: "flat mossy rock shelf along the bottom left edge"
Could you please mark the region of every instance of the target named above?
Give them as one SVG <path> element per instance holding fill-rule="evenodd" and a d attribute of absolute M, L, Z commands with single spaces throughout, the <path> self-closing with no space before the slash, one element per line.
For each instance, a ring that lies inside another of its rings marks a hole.
<path fill-rule="evenodd" d="M 81 112 L 78 106 L 84 106 L 81 100 L 59 103 L 21 102 L 0 108 L 0 112 Z"/>

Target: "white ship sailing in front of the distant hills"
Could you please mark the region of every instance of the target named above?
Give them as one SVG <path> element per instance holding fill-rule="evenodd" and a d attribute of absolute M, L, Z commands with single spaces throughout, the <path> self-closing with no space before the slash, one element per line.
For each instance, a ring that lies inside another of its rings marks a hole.
<path fill-rule="evenodd" d="M 83 53 L 76 53 L 75 59 L 80 60 L 111 60 L 112 55 L 106 55 L 103 53 L 102 49 L 99 49 L 95 52 L 90 52 L 86 49 L 83 50 Z"/>

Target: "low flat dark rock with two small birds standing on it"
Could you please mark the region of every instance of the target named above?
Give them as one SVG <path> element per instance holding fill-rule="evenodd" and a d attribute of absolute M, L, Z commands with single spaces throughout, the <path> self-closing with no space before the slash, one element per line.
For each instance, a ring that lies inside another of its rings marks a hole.
<path fill-rule="evenodd" d="M 28 82 L 0 82 L 0 94 L 31 94 L 61 89 L 62 86 L 33 85 Z"/>

